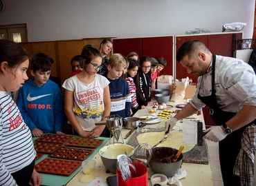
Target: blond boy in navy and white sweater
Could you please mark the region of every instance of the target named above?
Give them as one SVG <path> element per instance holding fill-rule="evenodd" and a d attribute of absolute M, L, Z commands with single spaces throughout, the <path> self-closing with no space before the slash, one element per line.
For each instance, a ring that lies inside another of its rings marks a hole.
<path fill-rule="evenodd" d="M 125 59 L 121 54 L 113 54 L 107 65 L 107 79 L 111 98 L 111 113 L 118 114 L 122 118 L 130 116 L 131 95 L 129 85 L 125 79 L 120 78 L 126 68 Z"/>

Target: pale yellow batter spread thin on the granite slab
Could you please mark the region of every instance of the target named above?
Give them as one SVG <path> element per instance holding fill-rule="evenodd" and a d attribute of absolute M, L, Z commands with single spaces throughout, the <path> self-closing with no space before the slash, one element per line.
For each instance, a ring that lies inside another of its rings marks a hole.
<path fill-rule="evenodd" d="M 161 139 L 165 136 L 165 132 L 147 132 L 137 136 L 138 143 L 147 142 L 152 147 L 156 145 Z M 182 132 L 178 130 L 172 130 L 168 134 L 168 137 L 165 141 L 160 143 L 157 147 L 172 147 L 174 149 L 179 149 L 181 146 L 184 146 L 183 152 L 190 151 L 194 145 L 189 145 L 182 143 Z"/>

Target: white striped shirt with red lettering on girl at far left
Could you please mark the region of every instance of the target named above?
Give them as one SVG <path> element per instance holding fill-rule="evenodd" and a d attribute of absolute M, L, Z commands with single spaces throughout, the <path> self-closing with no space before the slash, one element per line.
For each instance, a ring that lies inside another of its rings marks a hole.
<path fill-rule="evenodd" d="M 32 136 L 16 103 L 0 91 L 0 185 L 16 185 L 12 173 L 35 158 Z"/>

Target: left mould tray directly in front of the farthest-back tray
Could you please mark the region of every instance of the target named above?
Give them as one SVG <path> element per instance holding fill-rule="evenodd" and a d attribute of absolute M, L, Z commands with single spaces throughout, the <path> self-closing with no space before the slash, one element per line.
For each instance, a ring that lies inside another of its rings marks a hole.
<path fill-rule="evenodd" d="M 57 149 L 60 149 L 60 147 L 62 147 L 62 144 L 34 142 L 34 147 L 36 152 L 50 154 L 55 152 Z"/>

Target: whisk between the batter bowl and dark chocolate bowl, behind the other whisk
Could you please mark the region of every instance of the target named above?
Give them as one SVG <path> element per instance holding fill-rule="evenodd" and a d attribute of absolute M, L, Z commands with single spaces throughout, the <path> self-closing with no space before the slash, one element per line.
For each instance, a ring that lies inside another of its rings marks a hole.
<path fill-rule="evenodd" d="M 152 158 L 152 147 L 148 143 L 140 143 L 134 149 L 134 154 L 132 155 L 134 161 L 141 161 L 147 167 L 147 164 Z"/>

